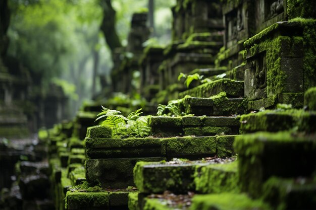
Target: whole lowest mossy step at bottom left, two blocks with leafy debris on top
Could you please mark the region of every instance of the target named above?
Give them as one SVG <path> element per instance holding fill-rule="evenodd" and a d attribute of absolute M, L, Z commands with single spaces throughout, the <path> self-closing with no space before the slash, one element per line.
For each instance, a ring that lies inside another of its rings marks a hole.
<path fill-rule="evenodd" d="M 100 187 L 74 187 L 66 194 L 66 209 L 127 209 L 129 193 L 135 190 L 104 190 Z"/>

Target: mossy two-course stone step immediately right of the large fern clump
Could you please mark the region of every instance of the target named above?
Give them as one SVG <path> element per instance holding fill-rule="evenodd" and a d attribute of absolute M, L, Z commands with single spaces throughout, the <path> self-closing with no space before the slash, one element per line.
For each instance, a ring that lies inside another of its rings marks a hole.
<path fill-rule="evenodd" d="M 240 116 L 151 117 L 151 132 L 158 136 L 238 134 Z"/>

